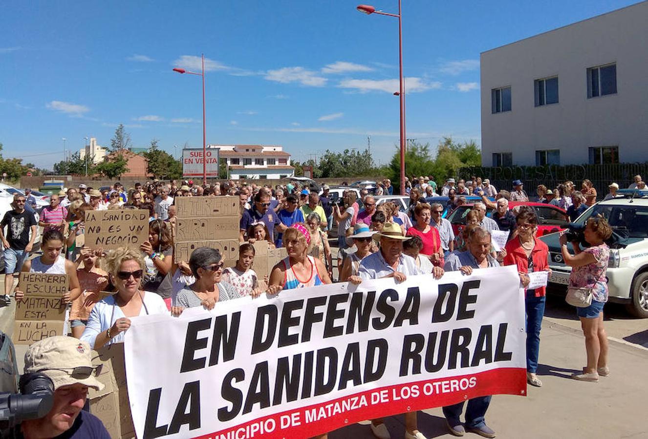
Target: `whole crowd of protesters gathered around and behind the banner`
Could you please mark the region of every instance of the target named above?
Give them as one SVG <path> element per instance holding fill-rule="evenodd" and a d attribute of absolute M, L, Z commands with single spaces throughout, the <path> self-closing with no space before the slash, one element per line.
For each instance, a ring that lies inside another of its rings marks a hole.
<path fill-rule="evenodd" d="M 640 176 L 635 178 L 633 187 L 645 187 Z M 373 193 L 363 189 L 360 198 L 356 190 L 349 188 L 339 200 L 330 195 L 327 185 L 318 193 L 295 182 L 272 187 L 229 180 L 200 186 L 191 180 L 152 180 L 137 183 L 128 191 L 119 182 L 103 191 L 81 184 L 78 189 L 52 195 L 39 222 L 33 213 L 33 197 L 27 192 L 14 197 L 14 209 L 6 213 L 1 223 L 7 273 L 5 295 L 10 294 L 14 283 L 12 273 L 67 273 L 69 332 L 87 343 L 78 346 L 99 348 L 123 341 L 130 319 L 135 316 L 178 316 L 186 308 L 212 309 L 219 301 L 246 295 L 257 297 L 263 292 L 278 294 L 334 281 L 359 284 L 365 279 L 384 277 L 404 281 L 424 273 L 439 279 L 448 271 L 470 274 L 480 268 L 515 265 L 521 286 L 526 288 L 528 273 L 549 270 L 548 248 L 537 239 L 535 210 L 526 206 L 509 209 L 509 201 L 529 201 L 524 184 L 515 180 L 509 189 L 498 191 L 487 178 L 480 177 L 448 178 L 443 185 L 437 185 L 434 177 L 407 179 L 410 205 L 407 211 L 401 211 L 395 202 L 378 204 L 376 200 L 378 195 L 393 193 L 389 180 L 379 182 Z M 610 184 L 605 199 L 614 197 L 618 189 L 618 184 Z M 599 198 L 590 180 L 583 180 L 581 190 L 566 181 L 553 189 L 540 185 L 536 193 L 538 202 L 564 209 L 572 220 Z M 223 255 L 211 248 L 198 248 L 189 261 L 174 262 L 178 214 L 174 200 L 222 195 L 238 197 L 240 206 L 241 245 L 234 266 L 224 267 Z M 465 197 L 470 195 L 479 198 L 470 201 L 467 226 L 455 236 L 450 222 L 443 218 L 445 206 L 431 198 L 447 197 L 448 209 L 453 209 L 467 204 Z M 84 247 L 79 238 L 84 234 L 85 213 L 105 209 L 148 211 L 148 241 L 137 249 L 107 252 Z M 492 217 L 486 215 L 487 209 L 494 209 Z M 29 259 L 38 226 L 43 228 L 41 254 Z M 510 232 L 507 245 L 498 252 L 491 246 L 490 232 L 494 230 Z M 565 235 L 561 235 L 561 244 L 564 261 L 574 268 L 574 279 L 570 282 L 575 287 L 596 288 L 592 305 L 579 308 L 586 336 L 587 365 L 583 373 L 574 374 L 573 378 L 597 381 L 599 376 L 610 373 L 603 328 L 609 253 L 603 241 L 609 237 L 610 228 L 605 219 L 597 218 L 596 222 L 588 222 L 586 230 L 592 247 L 581 250 L 573 242 L 570 253 Z M 335 232 L 336 239 L 332 236 Z M 252 244 L 256 241 L 267 241 L 269 246 L 283 247 L 287 252 L 287 257 L 262 279 L 253 269 Z M 338 248 L 336 260 L 332 246 Z M 527 382 L 536 387 L 542 386 L 537 365 L 545 294 L 545 287 L 525 290 Z M 17 288 L 16 299 L 21 297 L 23 292 Z M 80 352 L 78 348 L 77 351 Z M 97 387 L 88 381 L 85 391 L 93 386 Z M 465 431 L 473 431 L 494 437 L 495 432 L 485 422 L 490 402 L 490 396 L 469 400 L 465 423 L 459 419 L 463 403 L 443 407 L 450 433 L 461 436 Z M 370 428 L 376 437 L 389 438 L 382 420 L 373 420 Z M 425 437 L 418 430 L 415 412 L 406 414 L 405 430 L 408 439 Z"/>

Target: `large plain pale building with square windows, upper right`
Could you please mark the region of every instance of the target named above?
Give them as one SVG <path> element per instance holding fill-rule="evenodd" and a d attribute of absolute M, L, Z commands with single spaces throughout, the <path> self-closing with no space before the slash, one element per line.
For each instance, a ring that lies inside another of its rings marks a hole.
<path fill-rule="evenodd" d="M 648 160 L 648 1 L 481 54 L 483 166 Z"/>

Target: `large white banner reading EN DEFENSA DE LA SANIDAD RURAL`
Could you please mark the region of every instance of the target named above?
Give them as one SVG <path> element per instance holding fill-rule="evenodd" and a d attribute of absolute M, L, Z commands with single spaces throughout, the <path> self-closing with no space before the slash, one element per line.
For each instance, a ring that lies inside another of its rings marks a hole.
<path fill-rule="evenodd" d="M 515 266 L 340 283 L 135 317 L 139 438 L 309 437 L 489 394 L 526 395 Z"/>

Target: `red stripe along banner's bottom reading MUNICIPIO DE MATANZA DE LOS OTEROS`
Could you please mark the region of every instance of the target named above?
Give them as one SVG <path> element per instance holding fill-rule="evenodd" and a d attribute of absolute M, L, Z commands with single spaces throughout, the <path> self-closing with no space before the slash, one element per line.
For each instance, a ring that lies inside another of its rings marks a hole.
<path fill-rule="evenodd" d="M 477 396 L 526 396 L 526 385 L 524 368 L 502 368 L 438 380 L 415 381 L 264 416 L 196 438 L 307 438 L 355 422 L 452 405 Z M 415 396 L 416 393 L 418 396 Z"/>

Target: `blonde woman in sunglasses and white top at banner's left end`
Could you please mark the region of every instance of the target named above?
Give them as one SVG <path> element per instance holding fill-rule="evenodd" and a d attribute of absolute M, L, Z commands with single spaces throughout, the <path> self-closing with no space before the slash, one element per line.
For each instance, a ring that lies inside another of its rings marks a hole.
<path fill-rule="evenodd" d="M 111 250 L 106 254 L 106 268 L 117 292 L 98 301 L 87 319 L 81 339 L 93 349 L 124 341 L 130 317 L 168 314 L 159 295 L 142 289 L 145 263 L 141 252 L 128 247 Z"/>

